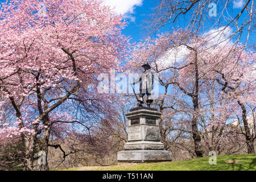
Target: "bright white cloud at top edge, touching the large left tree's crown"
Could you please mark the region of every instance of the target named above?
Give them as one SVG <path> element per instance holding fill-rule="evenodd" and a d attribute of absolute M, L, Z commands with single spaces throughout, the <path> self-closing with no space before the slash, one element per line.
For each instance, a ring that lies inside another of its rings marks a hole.
<path fill-rule="evenodd" d="M 123 18 L 135 21 L 134 13 L 136 6 L 142 6 L 143 0 L 103 0 L 104 5 L 114 7 L 117 14 L 122 14 Z"/>

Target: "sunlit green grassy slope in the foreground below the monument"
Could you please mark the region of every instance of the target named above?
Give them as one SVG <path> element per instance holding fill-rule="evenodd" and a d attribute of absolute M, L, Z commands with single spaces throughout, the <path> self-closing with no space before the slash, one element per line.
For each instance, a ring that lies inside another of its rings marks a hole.
<path fill-rule="evenodd" d="M 256 154 L 217 156 L 217 164 L 210 165 L 208 158 L 188 159 L 176 162 L 121 164 L 107 167 L 76 167 L 62 170 L 71 171 L 256 171 Z"/>

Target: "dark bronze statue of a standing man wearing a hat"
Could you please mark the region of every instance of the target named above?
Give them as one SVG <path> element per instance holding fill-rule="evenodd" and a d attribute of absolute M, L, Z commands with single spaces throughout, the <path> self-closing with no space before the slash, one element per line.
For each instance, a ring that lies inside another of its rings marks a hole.
<path fill-rule="evenodd" d="M 143 97 L 147 94 L 146 104 L 150 107 L 150 104 L 153 102 L 151 92 L 153 90 L 154 77 L 153 73 L 150 71 L 151 67 L 148 63 L 143 64 L 142 67 L 144 68 L 144 72 L 133 83 L 130 83 L 130 85 L 133 87 L 135 84 L 140 84 L 138 97 L 134 92 L 138 101 L 138 106 L 142 106 L 144 103 Z"/>

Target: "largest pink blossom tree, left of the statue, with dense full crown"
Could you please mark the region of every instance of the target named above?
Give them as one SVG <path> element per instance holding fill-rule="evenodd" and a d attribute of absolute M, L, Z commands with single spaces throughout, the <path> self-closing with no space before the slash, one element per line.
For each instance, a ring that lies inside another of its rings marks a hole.
<path fill-rule="evenodd" d="M 96 0 L 2 3 L 0 92 L 16 118 L 0 133 L 23 140 L 24 170 L 33 169 L 38 135 L 47 155 L 57 123 L 86 126 L 93 113 L 108 112 L 112 98 L 97 94 L 97 75 L 117 69 L 125 56 L 123 26 L 121 16 Z"/>

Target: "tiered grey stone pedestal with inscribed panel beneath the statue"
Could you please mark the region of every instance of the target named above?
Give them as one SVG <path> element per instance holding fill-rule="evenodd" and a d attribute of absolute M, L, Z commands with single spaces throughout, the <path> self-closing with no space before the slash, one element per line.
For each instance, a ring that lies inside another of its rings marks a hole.
<path fill-rule="evenodd" d="M 128 142 L 123 151 L 117 153 L 119 163 L 145 163 L 171 161 L 171 151 L 164 150 L 160 142 L 159 118 L 162 113 L 148 107 L 131 109 Z"/>

